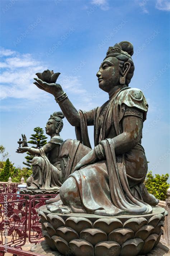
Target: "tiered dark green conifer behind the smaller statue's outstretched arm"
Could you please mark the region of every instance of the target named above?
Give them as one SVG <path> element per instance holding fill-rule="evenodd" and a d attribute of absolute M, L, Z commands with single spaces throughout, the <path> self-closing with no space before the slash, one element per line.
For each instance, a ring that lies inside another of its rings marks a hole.
<path fill-rule="evenodd" d="M 31 140 L 28 141 L 28 143 L 35 145 L 32 147 L 39 149 L 47 143 L 46 141 L 47 137 L 44 135 L 44 131 L 40 127 L 34 128 L 34 132 L 36 133 L 31 134 L 31 137 L 30 137 Z M 34 158 L 34 155 L 27 152 L 27 156 L 25 156 L 25 159 L 27 160 L 27 162 L 26 163 L 23 162 L 23 164 L 27 165 L 27 169 L 29 170 L 31 169 L 31 162 L 33 158 Z"/>

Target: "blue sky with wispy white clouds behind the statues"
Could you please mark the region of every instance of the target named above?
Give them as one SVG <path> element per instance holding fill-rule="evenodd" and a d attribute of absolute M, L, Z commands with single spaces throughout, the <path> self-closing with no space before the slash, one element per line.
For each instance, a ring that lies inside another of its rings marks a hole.
<path fill-rule="evenodd" d="M 36 72 L 60 72 L 57 82 L 77 109 L 108 100 L 96 72 L 109 46 L 131 41 L 135 71 L 130 87 L 144 92 L 149 110 L 142 145 L 148 169 L 169 172 L 169 11 L 167 0 L 10 0 L 1 1 L 1 141 L 11 162 L 21 133 L 60 111 L 51 94 L 33 84 Z M 93 128 L 89 129 L 93 141 Z M 64 119 L 63 139 L 75 138 Z"/>

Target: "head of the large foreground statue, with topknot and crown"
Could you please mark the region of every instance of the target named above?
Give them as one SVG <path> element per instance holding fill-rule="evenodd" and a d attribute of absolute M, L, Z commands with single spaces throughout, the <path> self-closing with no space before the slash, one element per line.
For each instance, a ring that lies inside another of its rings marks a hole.
<path fill-rule="evenodd" d="M 126 87 L 131 81 L 134 72 L 132 61 L 133 45 L 128 41 L 122 41 L 109 47 L 97 77 L 99 87 L 109 92 L 114 86 Z"/>

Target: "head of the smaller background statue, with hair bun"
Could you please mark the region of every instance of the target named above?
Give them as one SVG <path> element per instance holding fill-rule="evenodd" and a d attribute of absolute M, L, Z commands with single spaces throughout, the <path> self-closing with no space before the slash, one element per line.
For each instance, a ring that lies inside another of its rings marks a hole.
<path fill-rule="evenodd" d="M 63 121 L 64 114 L 62 112 L 54 112 L 50 118 L 48 119 L 48 122 L 46 124 L 46 134 L 53 135 L 60 133 L 63 128 Z"/>

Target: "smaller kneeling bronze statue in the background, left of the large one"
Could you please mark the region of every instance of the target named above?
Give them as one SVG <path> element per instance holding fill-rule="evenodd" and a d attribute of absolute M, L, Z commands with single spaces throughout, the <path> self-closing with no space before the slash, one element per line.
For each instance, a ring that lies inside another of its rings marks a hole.
<path fill-rule="evenodd" d="M 60 132 L 63 127 L 64 115 L 62 112 L 54 112 L 46 124 L 46 134 L 51 136 L 51 140 L 40 149 L 28 147 L 27 138 L 22 134 L 22 146 L 18 147 L 17 153 L 29 152 L 36 155 L 32 160 L 33 174 L 27 179 L 27 191 L 51 190 L 58 191 L 63 183 L 63 175 L 60 167 L 60 145 L 63 139 Z"/>

